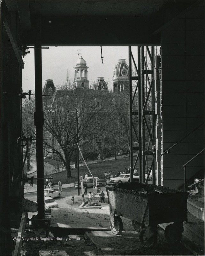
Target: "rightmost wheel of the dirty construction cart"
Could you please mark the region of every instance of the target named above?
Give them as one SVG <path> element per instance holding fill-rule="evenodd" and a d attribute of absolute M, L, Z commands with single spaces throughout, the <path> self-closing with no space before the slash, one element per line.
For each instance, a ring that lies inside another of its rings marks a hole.
<path fill-rule="evenodd" d="M 168 243 L 178 244 L 182 238 L 182 231 L 177 225 L 170 224 L 164 229 L 164 236 Z"/>

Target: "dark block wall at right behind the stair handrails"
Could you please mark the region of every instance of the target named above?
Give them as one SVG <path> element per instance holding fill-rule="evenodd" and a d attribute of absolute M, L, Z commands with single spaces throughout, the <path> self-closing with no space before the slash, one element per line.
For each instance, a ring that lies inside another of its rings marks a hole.
<path fill-rule="evenodd" d="M 201 5 L 161 32 L 161 153 L 204 122 L 205 7 Z M 182 165 L 203 148 L 202 125 L 162 157 L 162 185 L 179 188 L 184 183 Z M 188 165 L 188 178 L 202 168 L 203 154 Z"/>

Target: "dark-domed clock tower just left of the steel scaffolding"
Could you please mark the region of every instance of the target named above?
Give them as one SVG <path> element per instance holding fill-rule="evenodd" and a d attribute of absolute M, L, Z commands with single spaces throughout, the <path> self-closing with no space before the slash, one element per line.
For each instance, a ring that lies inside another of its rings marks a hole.
<path fill-rule="evenodd" d="M 118 64 L 113 71 L 113 91 L 128 92 L 128 72 L 129 68 L 125 59 L 118 60 Z"/>

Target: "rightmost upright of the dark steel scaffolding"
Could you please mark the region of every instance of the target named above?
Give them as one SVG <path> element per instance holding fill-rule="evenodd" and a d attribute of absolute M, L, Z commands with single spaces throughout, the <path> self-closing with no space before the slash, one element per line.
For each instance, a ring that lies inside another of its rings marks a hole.
<path fill-rule="evenodd" d="M 151 99 L 152 99 L 152 111 L 153 111 L 153 115 L 152 115 L 152 138 L 153 141 L 156 141 L 155 138 L 155 77 L 154 77 L 154 68 L 155 68 L 155 50 L 154 50 L 154 46 L 151 47 L 151 56 L 152 56 L 152 75 L 151 75 L 151 82 L 152 82 L 152 92 L 151 92 Z M 156 144 L 156 142 L 154 143 Z M 155 159 L 153 159 L 155 158 Z M 156 173 L 155 173 L 155 166 L 156 166 L 156 145 L 153 145 L 153 167 L 152 167 L 152 184 L 155 185 L 156 184 Z"/>

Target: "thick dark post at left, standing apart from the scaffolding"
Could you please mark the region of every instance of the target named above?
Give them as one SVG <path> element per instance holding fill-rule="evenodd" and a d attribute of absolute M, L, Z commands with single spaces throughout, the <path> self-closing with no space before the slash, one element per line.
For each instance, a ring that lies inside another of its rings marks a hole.
<path fill-rule="evenodd" d="M 44 164 L 43 164 L 43 100 L 42 100 L 42 50 L 41 50 L 41 16 L 34 21 L 34 62 L 35 62 L 35 112 L 36 126 L 36 168 L 37 168 L 37 202 L 38 219 L 44 219 Z"/>

